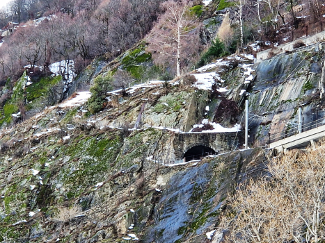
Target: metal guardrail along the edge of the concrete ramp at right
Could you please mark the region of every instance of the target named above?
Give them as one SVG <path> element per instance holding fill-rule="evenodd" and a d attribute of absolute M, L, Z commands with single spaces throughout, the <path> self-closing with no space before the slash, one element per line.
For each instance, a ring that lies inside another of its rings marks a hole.
<path fill-rule="evenodd" d="M 306 124 L 301 124 L 301 133 L 323 125 L 325 125 L 325 118 L 320 118 L 315 121 L 310 121 Z M 269 134 L 269 144 L 271 144 L 271 142 L 283 140 L 286 137 L 291 137 L 299 133 L 298 124 L 289 124 L 288 126 L 293 126 L 293 127 L 288 128 L 285 131 L 282 131 L 280 133 L 276 133 L 272 135 Z"/>

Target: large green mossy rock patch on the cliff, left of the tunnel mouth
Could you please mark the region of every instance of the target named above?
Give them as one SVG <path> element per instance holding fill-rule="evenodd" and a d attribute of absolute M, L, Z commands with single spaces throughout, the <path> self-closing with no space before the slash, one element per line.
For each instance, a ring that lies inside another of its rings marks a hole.
<path fill-rule="evenodd" d="M 79 196 L 87 187 L 104 181 L 120 152 L 120 137 L 86 137 L 59 149 L 68 164 L 59 172 L 59 181 L 67 188 L 66 196 Z"/>

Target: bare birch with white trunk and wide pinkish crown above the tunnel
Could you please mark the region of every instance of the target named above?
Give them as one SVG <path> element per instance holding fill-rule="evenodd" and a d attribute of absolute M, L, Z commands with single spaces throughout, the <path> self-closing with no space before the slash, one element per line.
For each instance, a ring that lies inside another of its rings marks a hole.
<path fill-rule="evenodd" d="M 191 46 L 200 45 L 198 24 L 196 17 L 189 15 L 190 5 L 186 0 L 167 1 L 163 3 L 163 7 L 166 12 L 150 32 L 148 50 L 165 57 L 161 58 L 161 62 L 165 62 L 170 57 L 175 58 L 176 75 L 180 76 L 181 58 L 184 58 L 182 52 L 186 49 L 189 51 Z"/>

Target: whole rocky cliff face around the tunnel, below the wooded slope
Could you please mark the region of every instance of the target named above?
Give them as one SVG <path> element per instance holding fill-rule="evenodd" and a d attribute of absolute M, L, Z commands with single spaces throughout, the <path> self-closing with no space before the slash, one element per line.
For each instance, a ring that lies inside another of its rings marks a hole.
<path fill-rule="evenodd" d="M 219 114 L 221 97 L 237 103 L 240 123 L 248 93 L 251 112 L 260 115 L 250 121 L 251 144 L 285 130 L 280 121 L 295 122 L 299 106 L 305 122 L 322 117 L 323 56 L 318 48 L 256 65 L 228 58 L 193 72 L 197 79 L 213 72 L 217 94 L 193 87 L 187 76 L 180 84 L 133 87 L 124 96 L 111 92 L 97 115 L 84 106 L 53 106 L 3 129 L 0 240 L 205 242 L 227 193 L 264 173 L 266 152 L 235 151 L 172 166 L 175 132 Z M 143 103 L 141 124 L 129 129 Z M 230 123 L 223 119 L 224 126 Z"/>

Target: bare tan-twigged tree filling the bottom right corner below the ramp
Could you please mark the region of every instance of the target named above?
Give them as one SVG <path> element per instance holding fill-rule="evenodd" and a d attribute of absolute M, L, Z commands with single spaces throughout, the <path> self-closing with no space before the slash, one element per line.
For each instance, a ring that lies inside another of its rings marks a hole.
<path fill-rule="evenodd" d="M 325 219 L 325 143 L 269 164 L 271 176 L 239 185 L 221 219 L 225 242 L 319 242 Z"/>

